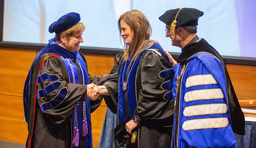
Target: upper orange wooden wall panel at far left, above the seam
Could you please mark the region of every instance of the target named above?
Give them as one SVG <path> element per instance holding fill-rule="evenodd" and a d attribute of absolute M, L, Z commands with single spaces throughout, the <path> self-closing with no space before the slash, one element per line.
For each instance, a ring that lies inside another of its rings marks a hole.
<path fill-rule="evenodd" d="M 23 95 L 28 70 L 35 57 L 35 50 L 0 48 L 0 93 Z"/>

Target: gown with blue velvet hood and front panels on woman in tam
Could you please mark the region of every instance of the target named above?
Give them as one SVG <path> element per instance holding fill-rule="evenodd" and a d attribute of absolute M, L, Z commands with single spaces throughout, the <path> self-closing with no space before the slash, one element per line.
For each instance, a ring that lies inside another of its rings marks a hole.
<path fill-rule="evenodd" d="M 72 73 L 70 74 L 71 67 L 67 63 L 65 65 L 64 61 L 72 66 L 76 84 L 73 84 Z M 70 53 L 59 45 L 48 44 L 36 56 L 24 87 L 24 111 L 29 132 L 27 147 L 72 147 L 72 114 L 80 101 L 77 106 L 77 117 L 80 115 L 81 118 L 77 119 L 78 128 L 80 127 L 78 147 L 92 147 L 90 100 L 86 98 L 87 86 L 82 85 L 83 76 L 78 61 L 83 68 L 85 84 L 97 79 L 102 85 L 106 76 L 89 76 L 88 79 L 86 60 L 79 51 Z M 86 103 L 89 131 L 86 137 L 81 136 L 83 101 Z M 101 100 L 93 102 L 92 110 L 100 102 Z"/>

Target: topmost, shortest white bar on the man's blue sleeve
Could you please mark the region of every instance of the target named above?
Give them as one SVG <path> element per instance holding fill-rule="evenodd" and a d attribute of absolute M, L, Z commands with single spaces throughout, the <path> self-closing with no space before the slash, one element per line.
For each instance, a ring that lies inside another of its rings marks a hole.
<path fill-rule="evenodd" d="M 196 75 L 188 77 L 186 80 L 186 87 L 196 86 L 196 85 L 208 85 L 208 84 L 217 84 L 216 80 L 209 75 Z"/>

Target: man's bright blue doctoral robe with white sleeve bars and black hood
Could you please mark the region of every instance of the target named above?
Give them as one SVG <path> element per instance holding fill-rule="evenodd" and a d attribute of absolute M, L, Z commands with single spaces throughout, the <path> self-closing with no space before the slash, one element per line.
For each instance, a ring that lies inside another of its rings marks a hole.
<path fill-rule="evenodd" d="M 244 116 L 235 94 L 230 93 L 233 87 L 222 58 L 204 39 L 188 45 L 182 52 L 180 65 L 174 66 L 175 147 L 235 148 L 233 130 L 243 134 Z M 236 106 L 230 107 L 232 103 Z M 237 113 L 233 130 L 231 111 Z"/>

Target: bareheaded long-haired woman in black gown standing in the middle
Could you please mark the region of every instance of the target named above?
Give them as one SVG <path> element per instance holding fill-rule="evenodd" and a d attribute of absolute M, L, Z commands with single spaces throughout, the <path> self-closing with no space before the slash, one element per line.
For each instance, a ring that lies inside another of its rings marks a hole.
<path fill-rule="evenodd" d="M 99 86 L 108 108 L 117 115 L 115 146 L 170 148 L 174 71 L 169 58 L 157 41 L 149 39 L 151 26 L 140 11 L 125 12 L 118 27 L 125 49 Z"/>

